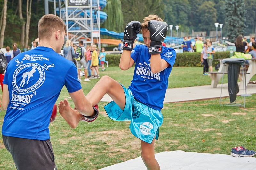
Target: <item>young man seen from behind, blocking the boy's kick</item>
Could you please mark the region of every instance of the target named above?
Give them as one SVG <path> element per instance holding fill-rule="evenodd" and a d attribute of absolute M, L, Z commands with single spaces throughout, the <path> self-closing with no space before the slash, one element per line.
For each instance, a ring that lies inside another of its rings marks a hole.
<path fill-rule="evenodd" d="M 58 54 L 65 31 L 61 18 L 44 15 L 38 23 L 38 47 L 18 54 L 6 68 L 2 106 L 7 110 L 2 138 L 17 169 L 56 169 L 48 127 L 63 86 L 80 113 L 85 117 L 95 114 L 84 96 L 74 63 Z"/>

